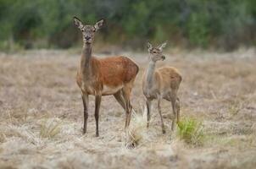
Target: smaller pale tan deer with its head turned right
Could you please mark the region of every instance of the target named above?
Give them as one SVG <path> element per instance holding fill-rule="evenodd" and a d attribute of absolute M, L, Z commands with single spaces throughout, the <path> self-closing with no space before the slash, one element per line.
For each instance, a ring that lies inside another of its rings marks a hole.
<path fill-rule="evenodd" d="M 165 46 L 166 42 L 157 47 L 153 47 L 149 42 L 147 42 L 147 49 L 149 52 L 150 61 L 147 67 L 147 71 L 143 75 L 142 81 L 143 94 L 145 95 L 147 100 L 147 128 L 149 126 L 150 120 L 151 102 L 154 99 L 157 99 L 163 134 L 165 134 L 165 129 L 160 102 L 162 99 L 171 102 L 172 110 L 174 113 L 174 118 L 171 124 L 171 129 L 173 130 L 175 125 L 175 118 L 177 117 L 177 122 L 179 122 L 180 120 L 180 100 L 177 97 L 177 91 L 179 89 L 182 79 L 181 74 L 177 71 L 176 68 L 155 68 L 157 61 L 164 61 L 165 59 L 164 55 L 162 54 L 163 48 Z"/>

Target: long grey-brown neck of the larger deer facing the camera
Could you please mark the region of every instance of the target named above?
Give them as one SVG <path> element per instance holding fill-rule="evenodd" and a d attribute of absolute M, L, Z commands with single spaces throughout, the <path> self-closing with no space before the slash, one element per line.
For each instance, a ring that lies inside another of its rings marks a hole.
<path fill-rule="evenodd" d="M 84 77 L 89 78 L 92 76 L 92 46 L 91 44 L 85 44 L 81 52 L 81 74 Z"/>

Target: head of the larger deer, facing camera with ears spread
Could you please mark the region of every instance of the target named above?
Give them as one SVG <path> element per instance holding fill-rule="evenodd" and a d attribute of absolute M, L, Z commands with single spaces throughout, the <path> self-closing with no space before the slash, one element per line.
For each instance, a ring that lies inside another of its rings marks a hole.
<path fill-rule="evenodd" d="M 85 44 L 91 44 L 94 40 L 95 32 L 103 26 L 103 19 L 95 25 L 83 25 L 80 19 L 74 17 L 74 25 L 81 30 L 83 42 Z"/>

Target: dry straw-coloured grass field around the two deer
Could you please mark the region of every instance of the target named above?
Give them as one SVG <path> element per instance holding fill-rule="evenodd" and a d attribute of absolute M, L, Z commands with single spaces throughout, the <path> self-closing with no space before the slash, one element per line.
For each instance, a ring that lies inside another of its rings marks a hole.
<path fill-rule="evenodd" d="M 81 92 L 75 83 L 79 52 L 1 53 L 0 168 L 256 167 L 255 49 L 166 50 L 167 59 L 158 66 L 180 69 L 181 119 L 202 123 L 200 143 L 197 139 L 186 143 L 178 132 L 171 133 L 168 101 L 162 106 L 166 134 L 155 102 L 146 128 L 142 73 L 147 53 L 122 54 L 140 66 L 132 92 L 136 115 L 130 135 L 124 132 L 125 112 L 114 96 L 104 96 L 96 138 L 92 96 L 87 134 L 82 134 Z M 136 139 L 134 148 L 126 146 L 131 135 Z"/>

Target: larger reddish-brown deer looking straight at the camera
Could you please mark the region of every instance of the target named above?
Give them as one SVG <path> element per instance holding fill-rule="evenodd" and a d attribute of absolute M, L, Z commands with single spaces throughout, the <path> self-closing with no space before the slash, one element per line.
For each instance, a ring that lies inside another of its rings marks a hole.
<path fill-rule="evenodd" d="M 81 63 L 78 68 L 76 82 L 81 88 L 81 96 L 84 106 L 84 128 L 88 118 L 88 95 L 95 95 L 95 120 L 96 136 L 98 136 L 98 114 L 102 95 L 114 95 L 114 98 L 125 109 L 125 128 L 131 121 L 130 95 L 138 66 L 128 57 L 92 57 L 92 41 L 94 34 L 103 25 L 103 20 L 95 25 L 83 25 L 80 19 L 74 17 L 74 24 L 82 32 L 83 48 L 81 52 Z"/>

